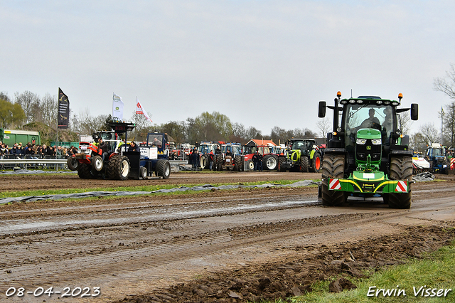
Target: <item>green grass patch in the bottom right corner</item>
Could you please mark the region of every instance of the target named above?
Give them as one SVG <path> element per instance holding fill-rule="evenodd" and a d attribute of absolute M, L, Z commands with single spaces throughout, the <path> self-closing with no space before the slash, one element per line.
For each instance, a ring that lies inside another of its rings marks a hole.
<path fill-rule="evenodd" d="M 348 303 L 348 302 L 455 302 L 455 247 L 446 246 L 426 255 L 423 260 L 410 260 L 374 273 L 369 278 L 351 279 L 357 289 L 341 293 L 328 292 L 329 281 L 313 285 L 314 291 L 302 297 L 292 298 L 293 303 Z M 399 288 L 397 288 L 399 285 Z M 414 296 L 413 287 L 452 289 L 447 297 Z M 405 289 L 406 296 L 367 297 L 369 287 L 377 289 Z"/>

